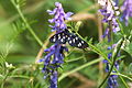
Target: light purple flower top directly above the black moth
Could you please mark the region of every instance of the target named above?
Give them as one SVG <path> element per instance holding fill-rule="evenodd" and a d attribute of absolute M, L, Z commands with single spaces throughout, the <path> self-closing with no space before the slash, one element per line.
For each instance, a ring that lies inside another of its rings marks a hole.
<path fill-rule="evenodd" d="M 47 10 L 47 12 L 51 15 L 54 15 L 54 19 L 50 19 L 48 22 L 55 23 L 55 25 L 50 25 L 50 26 L 53 29 L 53 31 L 59 31 L 59 30 L 67 29 L 65 24 L 65 20 L 72 20 L 70 15 L 73 14 L 73 12 L 65 13 L 59 2 L 55 2 L 55 7 L 56 8 L 53 11 Z"/>

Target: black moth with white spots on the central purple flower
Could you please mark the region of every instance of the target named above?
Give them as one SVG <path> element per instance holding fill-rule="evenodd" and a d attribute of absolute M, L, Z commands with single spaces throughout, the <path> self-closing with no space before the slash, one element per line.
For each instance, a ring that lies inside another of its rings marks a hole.
<path fill-rule="evenodd" d="M 66 44 L 66 42 L 68 42 L 69 45 L 78 48 L 88 47 L 88 44 L 84 40 L 81 40 L 77 34 L 70 33 L 67 29 L 53 35 L 50 38 L 50 42 L 58 44 Z"/>

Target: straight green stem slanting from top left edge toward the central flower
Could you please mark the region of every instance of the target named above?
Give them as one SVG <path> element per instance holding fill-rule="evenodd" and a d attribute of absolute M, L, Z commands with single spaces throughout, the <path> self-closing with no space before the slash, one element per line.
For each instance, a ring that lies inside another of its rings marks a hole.
<path fill-rule="evenodd" d="M 15 7 L 19 15 L 21 16 L 22 21 L 24 22 L 26 29 L 30 31 L 30 33 L 33 35 L 33 37 L 37 41 L 37 43 L 43 46 L 43 42 L 36 36 L 36 34 L 34 33 L 34 31 L 32 30 L 32 28 L 30 26 L 30 24 L 28 23 L 26 19 L 24 18 L 21 9 L 20 9 L 20 6 L 19 4 L 15 4 L 12 0 L 11 0 L 12 4 Z"/>

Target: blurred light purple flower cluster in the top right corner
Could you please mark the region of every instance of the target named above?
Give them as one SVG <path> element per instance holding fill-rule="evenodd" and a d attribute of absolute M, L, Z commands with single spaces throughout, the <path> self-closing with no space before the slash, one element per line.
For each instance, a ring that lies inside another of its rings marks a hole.
<path fill-rule="evenodd" d="M 124 0 L 123 6 L 121 7 L 123 14 L 121 21 L 125 21 L 125 25 L 129 24 L 129 18 L 132 16 L 132 0 Z"/>

